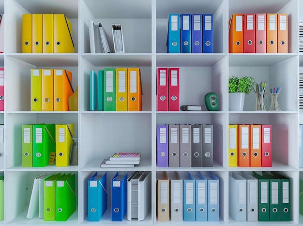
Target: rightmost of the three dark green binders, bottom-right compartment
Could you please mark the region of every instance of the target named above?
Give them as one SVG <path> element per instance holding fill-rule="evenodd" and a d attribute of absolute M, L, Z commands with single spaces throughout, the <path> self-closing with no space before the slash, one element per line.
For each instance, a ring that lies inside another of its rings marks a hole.
<path fill-rule="evenodd" d="M 271 174 L 280 179 L 280 198 L 281 198 L 281 221 L 291 221 L 291 184 L 290 179 L 279 173 L 271 172 Z"/>

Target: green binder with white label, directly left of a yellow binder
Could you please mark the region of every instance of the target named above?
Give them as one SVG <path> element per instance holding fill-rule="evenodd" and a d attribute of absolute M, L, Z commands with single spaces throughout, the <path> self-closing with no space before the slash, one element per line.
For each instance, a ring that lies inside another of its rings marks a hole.
<path fill-rule="evenodd" d="M 104 111 L 116 111 L 116 69 L 104 68 L 103 74 Z"/>

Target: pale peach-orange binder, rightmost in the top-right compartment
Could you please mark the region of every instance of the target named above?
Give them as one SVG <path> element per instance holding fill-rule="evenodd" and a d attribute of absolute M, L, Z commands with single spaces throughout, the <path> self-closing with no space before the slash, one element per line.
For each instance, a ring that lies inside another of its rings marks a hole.
<path fill-rule="evenodd" d="M 288 53 L 287 14 L 278 14 L 278 53 Z"/>

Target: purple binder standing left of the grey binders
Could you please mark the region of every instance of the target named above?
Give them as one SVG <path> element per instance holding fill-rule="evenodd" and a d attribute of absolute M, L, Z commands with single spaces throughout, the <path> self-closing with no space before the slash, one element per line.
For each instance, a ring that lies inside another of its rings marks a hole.
<path fill-rule="evenodd" d="M 157 126 L 157 166 L 168 167 L 168 125 Z"/>

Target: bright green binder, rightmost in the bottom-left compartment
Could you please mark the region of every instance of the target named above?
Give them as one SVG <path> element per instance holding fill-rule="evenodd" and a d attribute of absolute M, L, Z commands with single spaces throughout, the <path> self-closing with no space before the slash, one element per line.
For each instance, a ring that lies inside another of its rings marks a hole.
<path fill-rule="evenodd" d="M 76 211 L 75 174 L 56 181 L 56 221 L 66 221 Z"/>

